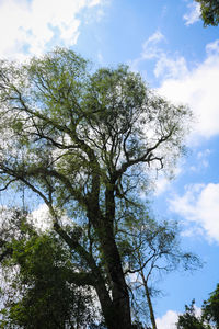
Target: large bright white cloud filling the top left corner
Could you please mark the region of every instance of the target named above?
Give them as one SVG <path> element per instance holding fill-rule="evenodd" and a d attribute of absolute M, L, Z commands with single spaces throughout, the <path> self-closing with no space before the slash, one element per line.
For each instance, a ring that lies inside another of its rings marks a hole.
<path fill-rule="evenodd" d="M 72 46 L 79 36 L 79 14 L 104 0 L 2 0 L 0 1 L 0 55 L 23 58 L 53 45 Z M 4 33 L 3 33 L 4 31 Z M 55 42 L 56 39 L 56 42 Z"/>

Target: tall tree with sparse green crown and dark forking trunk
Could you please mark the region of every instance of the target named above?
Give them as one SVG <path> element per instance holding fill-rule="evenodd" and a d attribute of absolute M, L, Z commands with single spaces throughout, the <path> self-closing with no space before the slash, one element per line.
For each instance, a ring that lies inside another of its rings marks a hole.
<path fill-rule="evenodd" d="M 83 262 L 78 276 L 95 288 L 107 328 L 130 329 L 119 202 L 127 207 L 150 168 L 165 169 L 183 152 L 191 112 L 127 67 L 93 72 L 67 49 L 25 65 L 2 61 L 0 104 L 1 190 L 22 183 L 43 200 L 54 230 Z M 60 225 L 65 212 L 77 231 Z"/>

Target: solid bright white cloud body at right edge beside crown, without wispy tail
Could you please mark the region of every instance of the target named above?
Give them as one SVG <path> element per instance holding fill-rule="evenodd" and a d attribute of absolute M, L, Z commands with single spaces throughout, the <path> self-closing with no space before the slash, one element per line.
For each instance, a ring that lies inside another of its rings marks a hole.
<path fill-rule="evenodd" d="M 193 70 L 163 80 L 159 92 L 175 103 L 188 104 L 197 121 L 192 138 L 219 134 L 219 41 L 206 46 L 207 57 Z M 186 67 L 186 64 L 185 64 Z"/>

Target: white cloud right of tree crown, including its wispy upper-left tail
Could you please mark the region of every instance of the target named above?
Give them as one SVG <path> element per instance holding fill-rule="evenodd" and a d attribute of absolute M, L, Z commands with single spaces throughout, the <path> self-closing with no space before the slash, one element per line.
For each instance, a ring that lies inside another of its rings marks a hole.
<path fill-rule="evenodd" d="M 161 81 L 158 92 L 176 104 L 187 104 L 195 114 L 189 141 L 219 134 L 219 39 L 206 45 L 206 59 L 188 69 L 186 59 L 177 53 L 170 54 L 160 46 L 165 37 L 152 34 L 142 45 L 138 58 L 130 67 L 138 70 L 145 60 L 154 60 L 153 73 Z"/>

